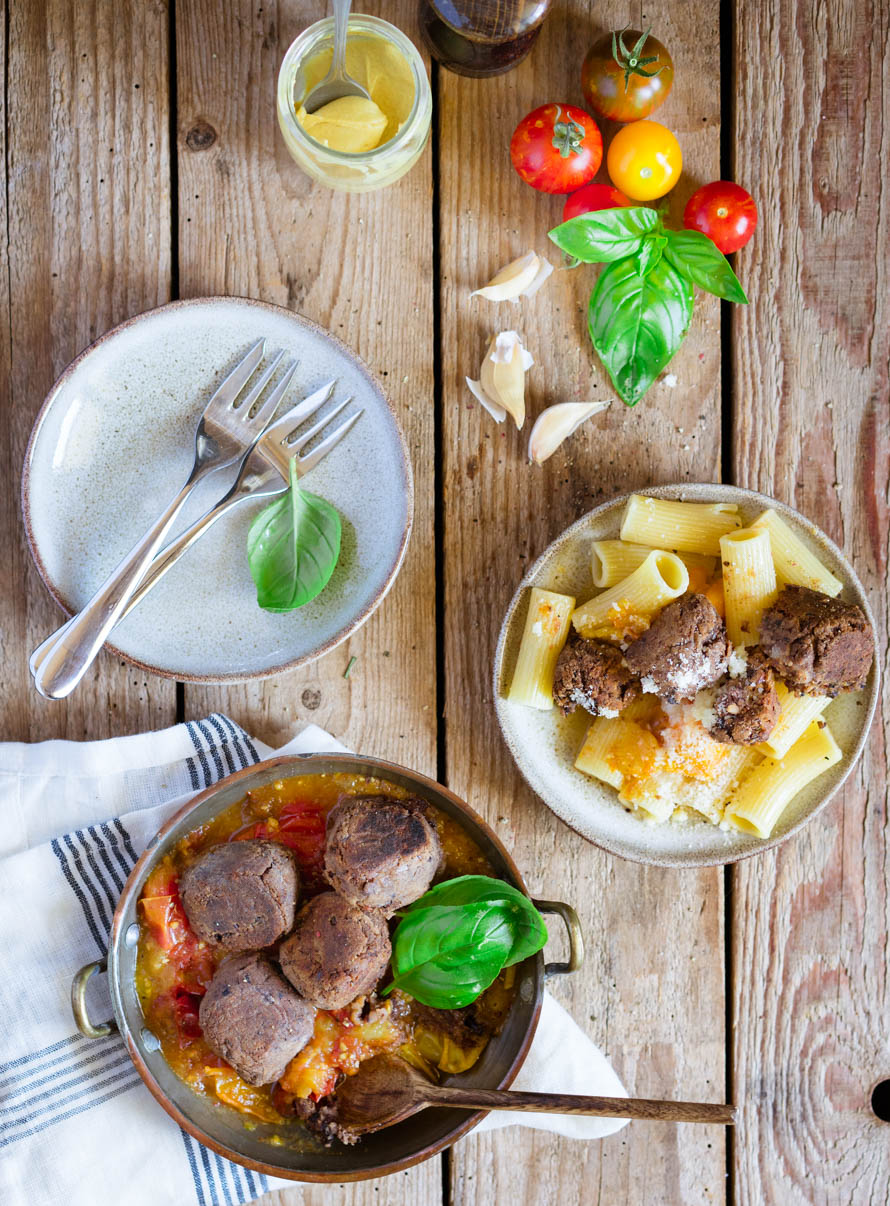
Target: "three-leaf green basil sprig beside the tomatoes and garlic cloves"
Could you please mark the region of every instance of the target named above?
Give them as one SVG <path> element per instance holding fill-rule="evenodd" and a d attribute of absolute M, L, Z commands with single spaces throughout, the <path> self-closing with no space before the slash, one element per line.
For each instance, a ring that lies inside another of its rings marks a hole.
<path fill-rule="evenodd" d="M 748 303 L 707 235 L 671 230 L 648 206 L 581 213 L 550 232 L 574 260 L 607 264 L 587 311 L 590 338 L 619 397 L 636 405 L 686 338 L 692 286 Z"/>

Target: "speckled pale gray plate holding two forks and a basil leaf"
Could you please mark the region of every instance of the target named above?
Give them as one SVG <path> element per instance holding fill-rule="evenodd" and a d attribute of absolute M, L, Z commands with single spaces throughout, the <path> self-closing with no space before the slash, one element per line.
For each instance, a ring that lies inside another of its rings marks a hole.
<path fill-rule="evenodd" d="M 265 336 L 299 361 L 285 404 L 336 377 L 334 400 L 364 415 L 304 479 L 342 517 L 342 551 L 324 591 L 286 615 L 257 607 L 247 528 L 264 500 L 224 516 L 115 630 L 113 652 L 186 681 L 260 678 L 309 662 L 355 632 L 398 574 L 414 490 L 390 403 L 364 364 L 327 330 L 242 298 L 174 302 L 103 335 L 62 374 L 31 433 L 22 499 L 37 569 L 68 611 L 80 609 L 157 519 L 192 467 L 211 393 Z M 283 405 L 283 404 L 282 404 Z M 322 411 L 323 414 L 324 411 Z M 185 528 L 229 486 L 211 474 Z"/>

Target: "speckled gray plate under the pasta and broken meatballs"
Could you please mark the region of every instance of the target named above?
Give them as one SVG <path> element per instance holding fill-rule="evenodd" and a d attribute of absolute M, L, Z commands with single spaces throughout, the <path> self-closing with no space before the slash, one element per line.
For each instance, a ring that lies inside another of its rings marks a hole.
<path fill-rule="evenodd" d="M 847 584 L 841 598 L 857 603 L 868 616 L 872 631 L 877 631 L 862 585 L 844 555 L 824 532 L 784 503 L 737 486 L 658 486 L 642 493 L 687 502 L 736 503 L 745 522 L 756 519 L 766 507 L 774 508 L 824 564 Z M 831 731 L 844 751 L 843 759 L 800 792 L 768 839 L 736 830 L 724 832 L 705 820 L 686 825 L 671 821 L 652 825 L 626 813 L 614 788 L 574 768 L 590 718 L 584 714 L 566 718 L 556 709 L 539 712 L 510 703 L 504 696 L 516 665 L 529 587 L 541 586 L 574 595 L 579 603 L 596 593 L 591 580 L 591 545 L 593 540 L 617 538 L 628 498 L 630 494 L 614 498 L 573 523 L 554 540 L 520 582 L 504 617 L 494 654 L 494 701 L 500 728 L 529 786 L 557 816 L 596 845 L 634 862 L 666 867 L 734 862 L 795 833 L 828 802 L 850 773 L 862 751 L 878 702 L 877 658 L 866 689 L 839 696 L 825 712 Z"/>

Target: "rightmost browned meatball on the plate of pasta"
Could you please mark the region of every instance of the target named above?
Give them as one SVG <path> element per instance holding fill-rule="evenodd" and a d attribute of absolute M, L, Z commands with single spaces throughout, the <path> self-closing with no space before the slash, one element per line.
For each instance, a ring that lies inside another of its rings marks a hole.
<path fill-rule="evenodd" d="M 760 644 L 795 695 L 859 691 L 874 657 L 861 608 L 806 586 L 786 586 L 763 613 Z"/>

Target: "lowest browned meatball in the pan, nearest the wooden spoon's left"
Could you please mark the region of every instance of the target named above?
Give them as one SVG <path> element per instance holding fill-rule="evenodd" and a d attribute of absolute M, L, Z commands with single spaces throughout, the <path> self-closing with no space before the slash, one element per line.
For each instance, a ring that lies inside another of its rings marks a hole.
<path fill-rule="evenodd" d="M 264 955 L 230 955 L 198 1011 L 204 1037 L 248 1084 L 271 1084 L 312 1037 L 315 1008 Z"/>

